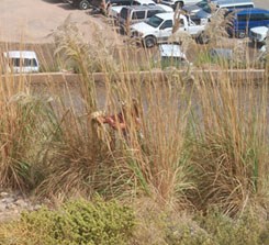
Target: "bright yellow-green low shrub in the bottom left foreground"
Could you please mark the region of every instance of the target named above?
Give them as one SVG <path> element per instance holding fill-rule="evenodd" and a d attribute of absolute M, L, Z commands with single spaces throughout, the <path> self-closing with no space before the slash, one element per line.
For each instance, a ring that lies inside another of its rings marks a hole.
<path fill-rule="evenodd" d="M 3 244 L 121 245 L 132 236 L 134 224 L 133 211 L 116 202 L 71 201 L 58 210 L 23 213 Z"/>

